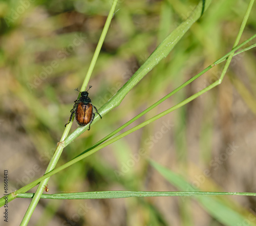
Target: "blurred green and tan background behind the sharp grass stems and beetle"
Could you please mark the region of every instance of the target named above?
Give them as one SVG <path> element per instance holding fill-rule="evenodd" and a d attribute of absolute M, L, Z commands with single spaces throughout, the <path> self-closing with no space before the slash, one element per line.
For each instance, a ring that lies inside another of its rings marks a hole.
<path fill-rule="evenodd" d="M 92 103 L 100 108 L 108 101 L 197 3 L 119 1 L 89 82 Z M 63 150 L 58 166 L 229 52 L 248 3 L 213 1 L 169 56 L 119 107 Z M 9 192 L 45 172 L 77 98 L 74 88 L 80 88 L 87 73 L 111 4 L 81 0 L 0 2 L 1 168 L 9 171 Z M 255 13 L 254 6 L 242 41 L 255 34 Z M 202 191 L 255 192 L 255 56 L 252 49 L 234 57 L 221 85 L 52 176 L 49 193 L 177 191 L 148 158 L 183 175 Z M 223 66 L 217 65 L 131 126 L 211 84 Z M 75 128 L 73 123 L 72 131 Z M 141 148 L 143 155 L 138 154 Z M 256 223 L 255 198 L 226 200 Z M 10 202 L 11 225 L 20 223 L 29 203 L 29 199 Z M 222 224 L 193 199 L 154 197 L 40 200 L 29 225 Z"/>

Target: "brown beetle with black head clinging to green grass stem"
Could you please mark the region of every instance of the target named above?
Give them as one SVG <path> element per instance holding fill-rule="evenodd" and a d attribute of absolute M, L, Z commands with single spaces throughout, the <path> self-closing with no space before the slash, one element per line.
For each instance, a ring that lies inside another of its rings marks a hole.
<path fill-rule="evenodd" d="M 91 87 L 92 85 L 89 85 L 89 89 Z M 78 88 L 76 88 L 75 91 L 80 92 Z M 78 125 L 86 126 L 87 124 L 89 124 L 88 130 L 90 130 L 91 124 L 95 117 L 95 114 L 93 112 L 93 107 L 96 110 L 99 117 L 102 119 L 97 108 L 91 103 L 91 99 L 88 97 L 89 96 L 88 91 L 80 92 L 81 93 L 80 98 L 74 101 L 75 102 L 74 106 L 70 111 L 71 116 L 69 118 L 69 122 L 65 125 L 65 127 L 71 122 L 72 117 L 75 114 L 76 122 L 78 123 Z"/>

